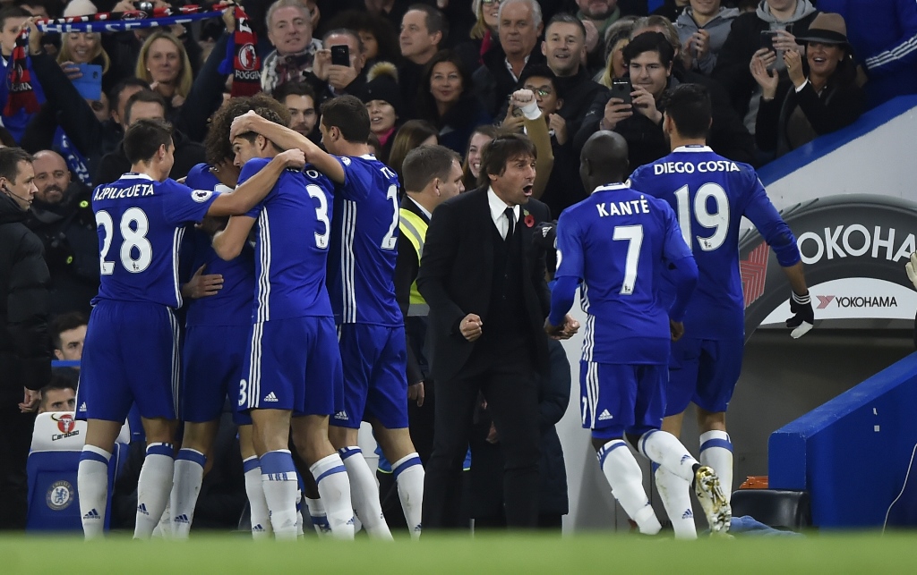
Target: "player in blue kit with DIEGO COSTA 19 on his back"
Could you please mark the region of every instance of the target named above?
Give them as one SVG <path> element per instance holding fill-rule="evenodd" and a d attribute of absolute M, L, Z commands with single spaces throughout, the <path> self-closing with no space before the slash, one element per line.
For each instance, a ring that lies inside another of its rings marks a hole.
<path fill-rule="evenodd" d="M 666 420 L 662 429 L 678 436 L 688 404 L 697 407 L 702 464 L 713 467 L 728 498 L 732 492 L 733 446 L 726 433 L 726 407 L 742 370 L 745 299 L 739 274 L 739 223 L 745 216 L 777 255 L 790 280 L 790 335 L 812 329 L 814 316 L 796 238 L 768 199 L 754 168 L 718 156 L 706 146 L 711 103 L 706 89 L 682 84 L 668 92 L 663 119 L 672 153 L 637 168 L 635 190 L 667 201 L 678 214 L 684 241 L 700 270 L 698 288 L 685 315 L 686 337 L 672 344 Z M 657 472 L 660 494 L 680 494 L 679 479 Z M 669 511 L 676 533 L 693 530 L 680 519 L 684 504 Z M 668 506 L 667 506 L 668 509 Z"/>

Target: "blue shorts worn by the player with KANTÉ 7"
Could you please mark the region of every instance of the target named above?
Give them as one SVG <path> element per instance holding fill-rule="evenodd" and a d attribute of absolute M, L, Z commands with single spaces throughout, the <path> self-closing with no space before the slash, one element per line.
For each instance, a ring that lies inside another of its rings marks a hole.
<path fill-rule="evenodd" d="M 606 439 L 659 429 L 667 377 L 665 365 L 581 361 L 582 427 Z"/>

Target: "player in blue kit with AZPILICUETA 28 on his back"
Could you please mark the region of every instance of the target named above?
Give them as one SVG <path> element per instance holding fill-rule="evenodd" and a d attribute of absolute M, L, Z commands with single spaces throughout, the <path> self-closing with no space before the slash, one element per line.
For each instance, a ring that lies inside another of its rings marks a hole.
<path fill-rule="evenodd" d="M 168 123 L 138 120 L 128 128 L 124 146 L 131 172 L 93 193 L 102 283 L 93 300 L 77 393 L 77 417 L 88 424 L 77 475 L 87 538 L 102 535 L 108 461 L 134 402 L 148 445 L 134 537 L 150 536 L 169 499 L 181 374 L 173 309 L 182 305 L 178 256 L 185 226 L 206 215 L 249 211 L 283 168 L 302 162 L 302 154 L 278 157 L 248 185 L 215 194 L 168 179 L 174 163 Z"/>

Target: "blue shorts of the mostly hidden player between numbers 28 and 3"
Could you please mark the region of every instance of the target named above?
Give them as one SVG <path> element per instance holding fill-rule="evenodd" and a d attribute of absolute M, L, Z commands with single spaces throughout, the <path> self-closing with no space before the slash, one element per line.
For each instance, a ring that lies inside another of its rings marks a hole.
<path fill-rule="evenodd" d="M 193 325 L 185 328 L 182 349 L 182 420 L 218 419 L 226 396 L 238 399 L 242 365 L 249 350 L 250 325 Z M 251 425 L 248 414 L 233 410 L 236 425 Z"/>

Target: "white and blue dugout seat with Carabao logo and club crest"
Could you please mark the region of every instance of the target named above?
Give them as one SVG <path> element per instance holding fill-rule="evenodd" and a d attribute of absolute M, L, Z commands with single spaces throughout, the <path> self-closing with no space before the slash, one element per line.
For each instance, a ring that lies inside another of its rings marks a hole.
<path fill-rule="evenodd" d="M 127 426 L 125 426 L 127 428 Z M 86 435 L 86 422 L 73 412 L 42 413 L 35 418 L 32 448 L 28 454 L 28 531 L 79 531 L 83 529 L 76 472 Z M 105 528 L 111 520 L 111 495 L 115 477 L 127 461 L 129 430 L 122 429 L 108 463 L 108 504 Z"/>

